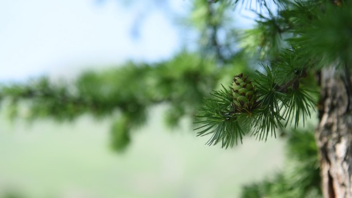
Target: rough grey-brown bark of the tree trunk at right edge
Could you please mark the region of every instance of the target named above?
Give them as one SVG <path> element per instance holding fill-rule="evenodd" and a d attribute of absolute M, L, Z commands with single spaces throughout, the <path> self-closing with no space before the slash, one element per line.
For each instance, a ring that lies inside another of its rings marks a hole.
<path fill-rule="evenodd" d="M 323 196 L 352 197 L 352 90 L 348 70 L 337 74 L 333 68 L 323 69 L 320 85 L 320 123 L 315 134 Z"/>

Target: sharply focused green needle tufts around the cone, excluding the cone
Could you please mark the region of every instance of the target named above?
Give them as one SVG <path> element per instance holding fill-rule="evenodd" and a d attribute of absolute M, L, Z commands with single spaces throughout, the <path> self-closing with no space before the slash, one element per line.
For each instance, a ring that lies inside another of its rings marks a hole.
<path fill-rule="evenodd" d="M 300 76 L 294 74 L 292 79 L 281 82 L 284 78 L 278 78 L 271 66 L 262 66 L 264 73 L 256 71 L 254 77 L 257 104 L 250 112 L 239 112 L 233 103 L 232 89 L 224 86 L 204 100 L 196 116 L 201 119 L 196 122 L 201 126 L 195 130 L 200 130 L 198 136 L 212 135 L 207 145 L 221 142 L 222 147 L 232 147 L 250 131 L 257 140 L 266 141 L 269 134 L 276 138 L 276 131 L 288 123 L 296 128 L 302 119 L 305 124 L 305 119 L 311 116 L 315 102 L 310 91 L 296 85 Z"/>

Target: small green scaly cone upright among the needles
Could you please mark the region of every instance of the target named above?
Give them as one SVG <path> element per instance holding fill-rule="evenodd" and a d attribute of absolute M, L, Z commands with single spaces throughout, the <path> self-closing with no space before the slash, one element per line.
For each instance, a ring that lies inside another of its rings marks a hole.
<path fill-rule="evenodd" d="M 233 103 L 238 111 L 248 113 L 255 108 L 257 104 L 255 87 L 247 76 L 243 77 L 242 73 L 235 76 L 232 91 Z"/>

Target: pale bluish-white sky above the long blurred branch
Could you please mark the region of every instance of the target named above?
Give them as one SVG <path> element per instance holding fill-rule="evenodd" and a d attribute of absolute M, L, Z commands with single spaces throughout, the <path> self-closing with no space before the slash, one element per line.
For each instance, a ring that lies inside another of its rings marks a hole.
<path fill-rule="evenodd" d="M 0 81 L 167 59 L 181 47 L 178 31 L 147 1 L 0 1 Z"/>

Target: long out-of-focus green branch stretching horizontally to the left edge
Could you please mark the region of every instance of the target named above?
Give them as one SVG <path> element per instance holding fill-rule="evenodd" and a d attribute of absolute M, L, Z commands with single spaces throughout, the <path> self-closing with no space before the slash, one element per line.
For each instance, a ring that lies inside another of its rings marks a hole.
<path fill-rule="evenodd" d="M 118 121 L 112 127 L 112 138 L 117 139 L 112 141 L 113 148 L 122 149 L 130 129 L 146 122 L 148 107 L 169 104 L 165 121 L 176 127 L 183 116 L 195 115 L 203 97 L 216 88 L 223 73 L 214 59 L 183 51 L 166 62 L 129 62 L 116 69 L 87 72 L 71 84 L 44 77 L 5 85 L 1 93 L 10 105 L 7 111 L 11 118 L 72 121 L 84 113 L 96 118 L 115 116 Z"/>

